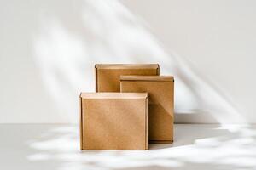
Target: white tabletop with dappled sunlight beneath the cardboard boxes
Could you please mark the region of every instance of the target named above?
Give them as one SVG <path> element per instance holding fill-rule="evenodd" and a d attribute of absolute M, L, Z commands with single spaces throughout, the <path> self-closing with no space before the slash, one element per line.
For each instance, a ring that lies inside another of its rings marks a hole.
<path fill-rule="evenodd" d="M 175 126 L 174 144 L 150 150 L 79 150 L 74 125 L 0 125 L 0 169 L 256 169 L 256 127 Z"/>

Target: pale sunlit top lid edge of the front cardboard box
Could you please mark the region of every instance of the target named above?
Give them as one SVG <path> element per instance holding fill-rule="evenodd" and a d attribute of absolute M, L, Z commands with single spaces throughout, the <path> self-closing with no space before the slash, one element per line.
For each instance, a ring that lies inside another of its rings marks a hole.
<path fill-rule="evenodd" d="M 146 99 L 148 93 L 81 93 L 82 99 Z"/>

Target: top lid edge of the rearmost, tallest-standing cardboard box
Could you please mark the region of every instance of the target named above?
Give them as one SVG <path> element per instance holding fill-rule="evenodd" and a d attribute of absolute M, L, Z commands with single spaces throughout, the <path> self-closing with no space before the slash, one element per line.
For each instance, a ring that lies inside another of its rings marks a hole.
<path fill-rule="evenodd" d="M 96 64 L 96 69 L 158 69 L 158 64 Z"/>

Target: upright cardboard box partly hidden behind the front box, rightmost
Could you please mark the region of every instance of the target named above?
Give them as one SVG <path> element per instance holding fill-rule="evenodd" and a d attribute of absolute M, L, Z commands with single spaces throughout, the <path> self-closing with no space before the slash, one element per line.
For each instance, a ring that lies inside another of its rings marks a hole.
<path fill-rule="evenodd" d="M 148 92 L 149 143 L 172 143 L 174 78 L 121 76 L 120 88 L 121 92 Z"/>

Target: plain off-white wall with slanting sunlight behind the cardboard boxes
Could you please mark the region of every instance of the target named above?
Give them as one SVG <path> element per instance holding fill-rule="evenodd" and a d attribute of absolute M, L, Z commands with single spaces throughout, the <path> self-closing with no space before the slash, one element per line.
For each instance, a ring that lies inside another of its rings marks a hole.
<path fill-rule="evenodd" d="M 256 122 L 256 1 L 0 0 L 0 122 L 78 122 L 95 63 L 160 63 L 176 122 Z"/>

